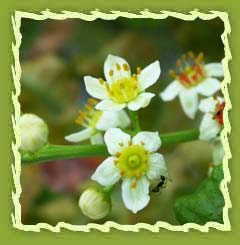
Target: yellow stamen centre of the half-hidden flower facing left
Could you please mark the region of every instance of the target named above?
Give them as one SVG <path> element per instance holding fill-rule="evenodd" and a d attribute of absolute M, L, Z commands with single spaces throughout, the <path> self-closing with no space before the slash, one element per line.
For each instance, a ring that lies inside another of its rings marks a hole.
<path fill-rule="evenodd" d="M 97 101 L 90 98 L 85 105 L 85 110 L 79 111 L 79 116 L 76 119 L 76 123 L 85 128 L 95 128 L 98 120 L 102 115 L 102 111 L 97 111 L 93 108 L 97 104 Z"/>

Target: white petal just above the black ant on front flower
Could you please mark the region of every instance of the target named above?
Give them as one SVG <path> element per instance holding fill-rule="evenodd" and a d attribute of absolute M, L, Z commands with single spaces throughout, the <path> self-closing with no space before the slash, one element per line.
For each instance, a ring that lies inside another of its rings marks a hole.
<path fill-rule="evenodd" d="M 164 158 L 159 153 L 154 153 L 149 156 L 149 167 L 147 171 L 147 177 L 149 179 L 160 179 L 160 176 L 168 176 L 168 170 L 164 161 Z"/>

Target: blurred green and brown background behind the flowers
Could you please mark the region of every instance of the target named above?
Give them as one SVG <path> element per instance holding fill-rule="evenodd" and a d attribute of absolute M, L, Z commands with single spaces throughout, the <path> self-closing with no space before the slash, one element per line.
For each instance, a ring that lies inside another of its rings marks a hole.
<path fill-rule="evenodd" d="M 23 113 L 35 113 L 50 128 L 50 142 L 68 144 L 64 136 L 78 131 L 74 123 L 85 104 L 83 76 L 103 77 L 108 54 L 124 57 L 132 70 L 160 60 L 162 74 L 149 91 L 158 94 L 171 82 L 168 71 L 187 51 L 204 52 L 205 63 L 220 62 L 224 57 L 220 19 L 182 21 L 126 19 L 114 21 L 68 19 L 36 21 L 22 19 L 21 95 Z M 149 107 L 140 110 L 143 130 L 160 133 L 196 128 L 201 119 L 188 119 L 179 100 L 163 103 L 155 96 Z M 120 186 L 112 196 L 112 212 L 106 219 L 120 224 L 166 221 L 177 224 L 172 207 L 182 195 L 192 193 L 207 177 L 212 162 L 206 142 L 191 142 L 161 148 L 172 182 L 161 193 L 151 194 L 150 204 L 137 214 L 122 202 Z M 90 176 L 102 158 L 63 160 L 22 167 L 22 222 L 36 224 L 59 221 L 71 224 L 93 222 L 78 207 L 81 192 L 93 185 Z M 95 222 L 95 221 L 94 221 Z"/>

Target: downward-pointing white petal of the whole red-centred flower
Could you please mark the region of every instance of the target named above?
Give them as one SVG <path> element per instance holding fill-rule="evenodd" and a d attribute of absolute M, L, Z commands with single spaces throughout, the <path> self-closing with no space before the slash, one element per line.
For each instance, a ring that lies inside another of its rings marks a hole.
<path fill-rule="evenodd" d="M 179 98 L 183 111 L 189 118 L 193 119 L 198 109 L 198 95 L 195 89 L 183 89 Z"/>

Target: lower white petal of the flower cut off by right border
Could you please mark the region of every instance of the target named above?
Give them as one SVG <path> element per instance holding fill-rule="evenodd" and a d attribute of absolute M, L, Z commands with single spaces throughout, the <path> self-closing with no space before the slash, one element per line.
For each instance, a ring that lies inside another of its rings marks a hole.
<path fill-rule="evenodd" d="M 199 130 L 200 130 L 199 139 L 211 140 L 217 137 L 218 133 L 221 130 L 221 127 L 219 126 L 217 120 L 213 119 L 212 114 L 206 113 L 203 116 Z"/>

